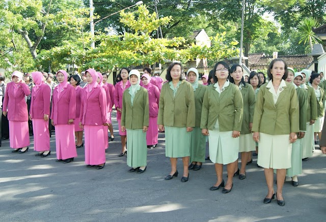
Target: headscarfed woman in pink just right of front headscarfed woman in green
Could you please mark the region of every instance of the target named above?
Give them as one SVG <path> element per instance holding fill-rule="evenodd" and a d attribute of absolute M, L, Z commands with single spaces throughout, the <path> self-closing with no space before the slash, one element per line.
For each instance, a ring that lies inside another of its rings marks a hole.
<path fill-rule="evenodd" d="M 159 103 L 159 90 L 157 86 L 151 83 L 151 77 L 148 74 L 142 76 L 143 87 L 148 91 L 149 100 L 149 127 L 146 133 L 147 148 L 153 149 L 158 141 L 158 103 Z"/>

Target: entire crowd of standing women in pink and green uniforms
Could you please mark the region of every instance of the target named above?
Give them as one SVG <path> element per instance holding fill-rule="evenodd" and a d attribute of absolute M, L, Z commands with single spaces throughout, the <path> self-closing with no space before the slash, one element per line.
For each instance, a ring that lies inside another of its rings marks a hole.
<path fill-rule="evenodd" d="M 127 155 L 129 172 L 145 172 L 147 149 L 157 145 L 159 131 L 165 132 L 166 157 L 171 162 L 165 180 L 178 176 L 178 158 L 183 162 L 181 182 L 189 180 L 189 170 L 200 170 L 210 159 L 217 180 L 209 189 L 223 187 L 222 192 L 228 193 L 235 176 L 247 178 L 246 166 L 253 162 L 252 155 L 259 154 L 257 166 L 264 168 L 268 189 L 263 203 L 276 196 L 280 206 L 285 205 L 286 176 L 298 186 L 302 161 L 312 156 L 315 144 L 326 153 L 323 72 L 295 72 L 275 59 L 267 69 L 268 81 L 262 72 L 245 75 L 241 65 L 230 67 L 223 61 L 201 77 L 202 84 L 196 68 L 185 73 L 178 62 L 168 67 L 166 82 L 151 77 L 148 67 L 143 75 L 121 68 L 115 85 L 107 83 L 107 77 L 92 68 L 81 76 L 59 70 L 55 82 L 51 73 L 14 71 L 5 85 L 1 75 L 2 139 L 10 139 L 13 153 L 23 154 L 34 135 L 35 156 L 47 157 L 53 131 L 57 162 L 73 161 L 76 149 L 85 146 L 86 166 L 102 169 L 105 149 L 115 138 L 115 108 L 119 157 Z M 209 156 L 205 158 L 206 142 Z M 226 181 L 223 165 L 227 165 Z"/>

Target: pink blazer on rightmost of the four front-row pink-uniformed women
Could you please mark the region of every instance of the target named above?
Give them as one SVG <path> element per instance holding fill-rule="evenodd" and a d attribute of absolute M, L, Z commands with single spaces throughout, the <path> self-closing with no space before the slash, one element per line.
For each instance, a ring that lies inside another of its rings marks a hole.
<path fill-rule="evenodd" d="M 108 122 L 105 90 L 98 85 L 89 92 L 88 98 L 87 90 L 86 87 L 82 91 L 79 121 L 83 125 L 101 126 Z"/>

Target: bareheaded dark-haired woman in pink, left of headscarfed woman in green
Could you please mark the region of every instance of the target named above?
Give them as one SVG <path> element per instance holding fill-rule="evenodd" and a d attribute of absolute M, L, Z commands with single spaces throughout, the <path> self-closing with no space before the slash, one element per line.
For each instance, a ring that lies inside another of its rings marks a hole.
<path fill-rule="evenodd" d="M 122 95 L 124 90 L 130 87 L 130 82 L 128 80 L 128 75 L 129 75 L 130 69 L 128 68 L 122 68 L 120 70 L 119 75 L 122 78 L 122 81 L 118 82 L 115 85 L 115 92 L 114 92 L 114 104 L 116 106 L 117 110 L 117 120 L 118 120 L 118 125 L 119 125 L 119 134 L 121 136 L 121 144 L 122 144 L 122 153 L 119 154 L 119 157 L 124 156 L 127 153 L 127 148 L 126 148 L 126 137 L 127 137 L 127 132 L 124 131 L 122 132 L 121 130 L 121 113 L 122 113 Z"/>

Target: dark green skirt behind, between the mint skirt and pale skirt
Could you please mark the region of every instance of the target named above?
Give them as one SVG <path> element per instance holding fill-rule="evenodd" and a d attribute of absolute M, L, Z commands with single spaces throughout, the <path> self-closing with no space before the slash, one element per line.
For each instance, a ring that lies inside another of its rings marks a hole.
<path fill-rule="evenodd" d="M 190 162 L 205 162 L 206 136 L 202 134 L 200 127 L 193 128 L 191 132 Z"/>

